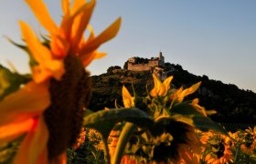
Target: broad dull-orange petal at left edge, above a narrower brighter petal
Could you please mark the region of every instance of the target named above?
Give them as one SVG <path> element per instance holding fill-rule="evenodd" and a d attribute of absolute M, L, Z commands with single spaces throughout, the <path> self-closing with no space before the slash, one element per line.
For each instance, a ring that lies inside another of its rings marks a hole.
<path fill-rule="evenodd" d="M 0 126 L 37 117 L 49 104 L 48 84 L 29 82 L 0 101 Z"/>

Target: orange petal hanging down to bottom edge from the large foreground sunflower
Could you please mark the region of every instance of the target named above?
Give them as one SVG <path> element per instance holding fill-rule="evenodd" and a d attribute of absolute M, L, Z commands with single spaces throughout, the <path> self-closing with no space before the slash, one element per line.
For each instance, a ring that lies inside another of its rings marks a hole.
<path fill-rule="evenodd" d="M 27 133 L 14 159 L 15 164 L 48 163 L 48 128 L 43 116 L 37 119 L 34 127 Z"/>

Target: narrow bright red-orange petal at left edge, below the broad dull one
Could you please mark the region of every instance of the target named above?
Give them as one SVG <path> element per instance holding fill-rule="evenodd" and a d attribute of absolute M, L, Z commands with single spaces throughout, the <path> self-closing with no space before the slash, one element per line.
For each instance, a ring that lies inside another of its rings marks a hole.
<path fill-rule="evenodd" d="M 0 127 L 0 145 L 29 131 L 34 125 L 34 122 L 35 120 L 33 118 L 29 118 L 23 122 L 11 123 Z"/>

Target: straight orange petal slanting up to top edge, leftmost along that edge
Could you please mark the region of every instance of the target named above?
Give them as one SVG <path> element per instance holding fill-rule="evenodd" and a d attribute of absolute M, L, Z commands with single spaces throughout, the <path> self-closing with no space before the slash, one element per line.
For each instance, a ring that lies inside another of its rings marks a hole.
<path fill-rule="evenodd" d="M 26 0 L 27 4 L 30 6 L 31 10 L 37 16 L 38 21 L 44 26 L 48 32 L 53 35 L 58 31 L 58 26 L 54 23 L 51 16 L 48 13 L 47 6 L 42 0 Z"/>

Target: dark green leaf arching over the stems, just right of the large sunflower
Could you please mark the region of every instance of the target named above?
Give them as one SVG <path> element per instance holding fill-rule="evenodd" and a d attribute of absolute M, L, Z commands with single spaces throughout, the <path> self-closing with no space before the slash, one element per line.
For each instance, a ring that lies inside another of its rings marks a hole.
<path fill-rule="evenodd" d="M 139 108 L 116 108 L 92 113 L 83 120 L 87 128 L 95 128 L 103 138 L 108 138 L 114 125 L 120 121 L 132 122 L 138 127 L 150 127 L 153 120 Z"/>

